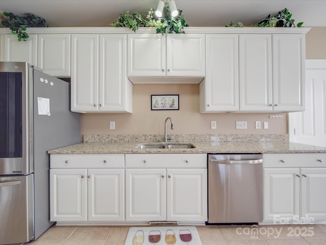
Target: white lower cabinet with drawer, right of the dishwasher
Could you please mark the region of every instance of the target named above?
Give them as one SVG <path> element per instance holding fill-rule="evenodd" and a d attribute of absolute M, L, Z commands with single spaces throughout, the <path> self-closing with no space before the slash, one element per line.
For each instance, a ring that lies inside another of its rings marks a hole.
<path fill-rule="evenodd" d="M 264 222 L 325 222 L 326 154 L 264 154 Z"/>

